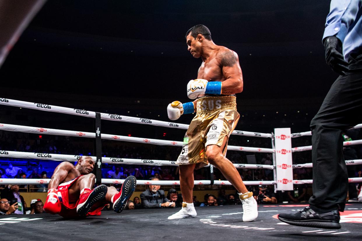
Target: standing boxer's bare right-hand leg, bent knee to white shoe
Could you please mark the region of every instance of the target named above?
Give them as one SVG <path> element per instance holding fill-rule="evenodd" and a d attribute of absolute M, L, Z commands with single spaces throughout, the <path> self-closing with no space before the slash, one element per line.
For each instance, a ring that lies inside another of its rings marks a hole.
<path fill-rule="evenodd" d="M 223 145 L 208 145 L 206 147 L 206 156 L 210 164 L 214 165 L 220 170 L 224 177 L 231 182 L 239 193 L 247 193 L 248 189 L 245 187 L 239 172 L 229 159 L 224 157 L 222 150 L 226 145 L 227 137 L 224 138 Z M 180 178 L 181 180 L 181 178 Z"/>

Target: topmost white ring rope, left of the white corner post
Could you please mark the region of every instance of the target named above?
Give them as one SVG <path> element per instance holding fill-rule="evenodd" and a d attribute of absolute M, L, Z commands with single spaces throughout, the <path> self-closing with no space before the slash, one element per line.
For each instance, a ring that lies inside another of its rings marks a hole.
<path fill-rule="evenodd" d="M 5 99 L 0 98 L 0 104 L 5 106 L 15 106 L 15 107 L 23 107 L 29 109 L 37 109 L 41 111 L 50 111 L 50 112 L 57 112 L 57 113 L 64 113 L 70 115 L 77 115 L 77 116 L 85 116 L 85 117 L 96 117 L 96 112 L 94 111 L 85 111 L 82 109 L 72 109 L 67 107 L 60 107 L 60 106 L 51 106 L 47 104 L 39 104 L 39 103 L 31 103 L 26 101 L 20 100 L 12 100 L 12 99 Z M 145 118 L 137 118 L 131 116 L 122 116 L 122 115 L 115 115 L 115 114 L 106 114 L 101 113 L 102 120 L 111 120 L 111 121 L 124 121 L 124 122 L 131 122 L 136 124 L 146 124 L 146 125 L 155 125 L 155 126 L 164 126 L 170 128 L 178 128 L 178 129 L 188 129 L 189 125 L 174 123 L 174 122 L 166 122 L 166 121 L 159 121 L 159 120 L 151 120 Z M 253 137 L 269 137 L 271 138 L 272 135 L 268 133 L 258 133 L 258 132 L 245 132 L 241 130 L 234 130 L 232 135 L 244 135 L 244 136 L 253 136 Z"/>

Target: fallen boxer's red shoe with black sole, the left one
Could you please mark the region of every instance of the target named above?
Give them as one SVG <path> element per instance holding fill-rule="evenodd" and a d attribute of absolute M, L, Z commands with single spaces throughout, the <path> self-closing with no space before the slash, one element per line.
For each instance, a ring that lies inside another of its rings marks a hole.
<path fill-rule="evenodd" d="M 79 216 L 87 215 L 94 203 L 106 197 L 107 190 L 107 186 L 102 184 L 94 188 L 90 193 L 84 193 L 81 195 L 77 205 L 77 214 Z"/>

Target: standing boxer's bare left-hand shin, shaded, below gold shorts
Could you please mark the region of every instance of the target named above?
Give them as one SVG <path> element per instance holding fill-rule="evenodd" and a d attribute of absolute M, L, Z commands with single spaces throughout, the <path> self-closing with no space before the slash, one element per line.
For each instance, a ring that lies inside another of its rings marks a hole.
<path fill-rule="evenodd" d="M 192 189 L 194 188 L 194 169 L 196 164 L 180 165 L 180 188 L 184 202 L 192 202 Z"/>

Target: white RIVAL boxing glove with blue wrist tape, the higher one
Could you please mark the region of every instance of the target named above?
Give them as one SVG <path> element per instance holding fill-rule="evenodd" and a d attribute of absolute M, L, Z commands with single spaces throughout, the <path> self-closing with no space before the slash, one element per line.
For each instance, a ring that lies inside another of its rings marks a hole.
<path fill-rule="evenodd" d="M 208 82 L 206 79 L 191 79 L 187 84 L 187 96 L 196 99 L 203 94 L 220 95 L 222 92 L 222 82 Z"/>

